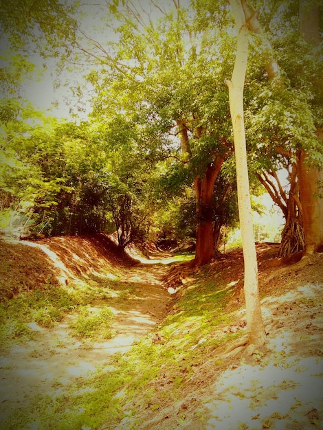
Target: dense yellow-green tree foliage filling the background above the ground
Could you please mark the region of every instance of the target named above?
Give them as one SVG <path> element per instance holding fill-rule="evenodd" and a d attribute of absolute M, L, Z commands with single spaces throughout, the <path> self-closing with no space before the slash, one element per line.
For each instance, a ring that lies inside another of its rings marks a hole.
<path fill-rule="evenodd" d="M 309 49 L 300 37 L 296 3 L 259 9 L 279 80 L 268 79 L 260 36 L 250 37 L 249 171 L 267 188 L 273 172 L 292 172 L 300 150 L 322 166 L 322 141 L 314 134 L 322 126 L 322 46 Z M 225 85 L 234 62 L 230 7 L 199 0 L 108 6 L 1 3 L 1 34 L 11 51 L 1 69 L 7 94 L 0 106 L 1 223 L 34 225 L 47 235 L 116 230 L 122 247 L 148 237 L 185 241 L 201 223 L 192 186 L 220 157 L 206 206 L 218 245 L 221 227 L 237 218 Z M 60 71 L 81 71 L 73 91 L 78 109 L 91 100 L 86 121 L 58 122 L 23 101 L 23 81 L 35 69 L 32 52 L 56 59 Z M 297 176 L 289 174 L 292 180 Z M 275 203 L 283 210 L 286 201 Z"/>

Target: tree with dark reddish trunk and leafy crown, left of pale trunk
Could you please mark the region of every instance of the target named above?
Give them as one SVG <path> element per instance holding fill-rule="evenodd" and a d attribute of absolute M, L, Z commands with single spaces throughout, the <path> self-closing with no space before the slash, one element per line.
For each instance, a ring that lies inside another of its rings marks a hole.
<path fill-rule="evenodd" d="M 159 145 L 157 156 L 164 152 L 164 157 L 181 164 L 182 171 L 188 173 L 185 180 L 194 183 L 197 206 L 194 264 L 202 265 L 214 257 L 214 182 L 232 151 L 227 94 L 223 87 L 230 37 L 214 47 L 215 38 L 207 34 L 219 30 L 189 20 L 188 10 L 181 8 L 179 2 L 174 4 L 175 10 L 162 12 L 157 24 L 149 21 L 146 26 L 142 15 L 131 5 L 118 12 L 116 17 L 123 25 L 116 30 L 120 43 L 113 45 L 118 53 L 115 54 L 118 67 L 110 71 L 115 76 L 113 87 L 105 78 L 107 72 L 91 73 L 90 78 L 98 93 L 96 109 L 100 114 L 111 109 L 115 100 L 118 100 L 116 109 L 127 111 L 129 117 L 136 106 L 137 126 L 146 128 L 147 139 L 143 144 L 147 150 L 155 152 Z M 131 59 L 132 65 L 124 65 L 125 57 L 126 61 Z M 113 65 L 109 59 L 104 63 L 107 69 Z M 214 86 L 216 97 L 211 98 Z M 109 87 L 113 101 L 107 96 Z"/>

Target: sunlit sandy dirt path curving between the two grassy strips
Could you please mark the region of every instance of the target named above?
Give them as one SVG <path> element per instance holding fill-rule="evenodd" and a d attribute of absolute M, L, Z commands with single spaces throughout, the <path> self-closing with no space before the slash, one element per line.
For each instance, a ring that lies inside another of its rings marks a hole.
<path fill-rule="evenodd" d="M 140 264 L 124 272 L 122 284 L 131 284 L 135 297 L 124 299 L 118 308 L 109 306 L 115 315 L 112 339 L 89 343 L 73 337 L 69 320 L 75 314 L 67 315 L 54 328 L 29 324 L 36 340 L 16 343 L 0 358 L 0 424 L 14 409 L 25 407 L 32 396 L 60 394 L 76 378 L 95 371 L 109 355 L 125 352 L 135 339 L 153 330 L 170 303 L 170 294 L 161 286 L 167 269 L 166 264 Z M 96 301 L 91 312 L 102 304 L 102 300 Z"/>

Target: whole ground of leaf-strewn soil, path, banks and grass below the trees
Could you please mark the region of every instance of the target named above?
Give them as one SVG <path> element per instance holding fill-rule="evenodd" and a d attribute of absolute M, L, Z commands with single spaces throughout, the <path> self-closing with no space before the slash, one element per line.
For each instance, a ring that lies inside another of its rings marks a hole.
<path fill-rule="evenodd" d="M 102 238 L 0 245 L 7 264 L 1 287 L 16 288 L 15 297 L 58 286 L 55 278 L 65 291 L 79 288 L 74 309 L 64 308 L 53 326 L 25 321 L 3 342 L 3 428 L 320 428 L 322 254 L 273 268 L 274 247 L 258 246 L 267 346 L 252 357 L 238 350 L 225 357 L 223 339 L 226 347 L 245 335 L 241 250 L 193 271 L 169 269 L 170 260 L 123 261 Z M 39 247 L 55 251 L 58 267 Z M 91 321 L 109 309 L 108 335 L 71 331 L 82 307 Z M 53 416 L 61 419 L 49 427 Z"/>

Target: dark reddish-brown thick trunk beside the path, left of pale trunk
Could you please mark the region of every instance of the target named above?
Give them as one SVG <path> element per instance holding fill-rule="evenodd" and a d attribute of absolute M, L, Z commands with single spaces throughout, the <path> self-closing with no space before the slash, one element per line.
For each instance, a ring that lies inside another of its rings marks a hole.
<path fill-rule="evenodd" d="M 197 246 L 194 265 L 208 264 L 215 256 L 213 240 L 213 192 L 214 182 L 218 176 L 224 159 L 216 157 L 203 177 L 194 182 L 197 201 Z"/>

